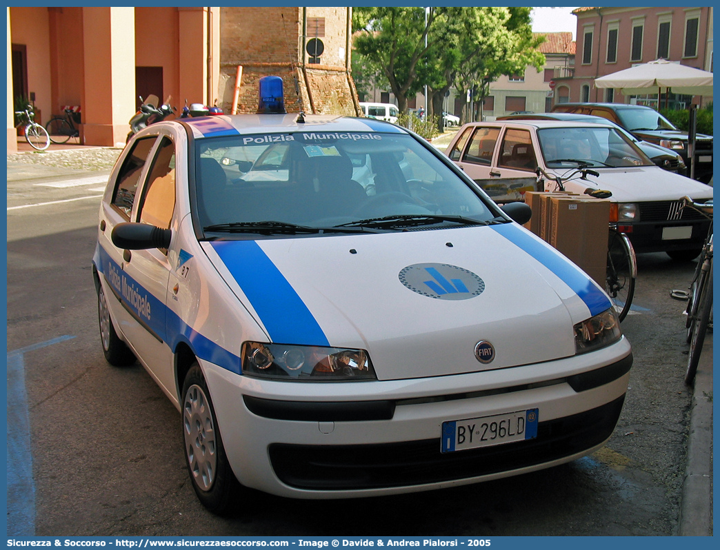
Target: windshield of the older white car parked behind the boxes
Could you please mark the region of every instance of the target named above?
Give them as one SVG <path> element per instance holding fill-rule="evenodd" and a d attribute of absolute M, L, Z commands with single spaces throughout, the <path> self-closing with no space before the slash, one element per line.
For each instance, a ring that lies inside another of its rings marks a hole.
<path fill-rule="evenodd" d="M 652 166 L 634 143 L 614 128 L 566 127 L 538 130 L 548 168 L 578 166 Z"/>

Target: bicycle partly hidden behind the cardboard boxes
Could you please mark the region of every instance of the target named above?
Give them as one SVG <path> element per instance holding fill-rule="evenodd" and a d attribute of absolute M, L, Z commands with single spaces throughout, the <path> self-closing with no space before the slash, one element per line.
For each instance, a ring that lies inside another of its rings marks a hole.
<path fill-rule="evenodd" d="M 557 191 L 564 191 L 564 183 L 580 176 L 580 179 L 587 179 L 587 176 L 599 176 L 600 174 L 589 168 L 572 168 L 567 176 L 557 176 L 547 173 L 538 166 L 536 171 L 538 177 L 555 181 Z M 610 191 L 601 189 L 588 189 L 585 194 L 597 199 L 611 197 Z M 606 269 L 605 292 L 611 299 L 612 305 L 618 314 L 618 320 L 624 320 L 630 311 L 632 298 L 635 293 L 635 279 L 637 278 L 637 261 L 635 251 L 626 233 L 618 230 L 616 224 L 608 225 L 608 266 Z"/>

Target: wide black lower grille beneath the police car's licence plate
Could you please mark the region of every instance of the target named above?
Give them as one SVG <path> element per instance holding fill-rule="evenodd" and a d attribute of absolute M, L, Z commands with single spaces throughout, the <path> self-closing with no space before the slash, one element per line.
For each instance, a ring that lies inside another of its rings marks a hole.
<path fill-rule="evenodd" d="M 511 472 L 582 453 L 611 436 L 625 396 L 577 415 L 547 420 L 538 435 L 493 447 L 440 452 L 440 438 L 376 445 L 274 443 L 270 461 L 279 479 L 306 490 L 406 487 Z M 438 426 L 438 431 L 439 431 Z"/>

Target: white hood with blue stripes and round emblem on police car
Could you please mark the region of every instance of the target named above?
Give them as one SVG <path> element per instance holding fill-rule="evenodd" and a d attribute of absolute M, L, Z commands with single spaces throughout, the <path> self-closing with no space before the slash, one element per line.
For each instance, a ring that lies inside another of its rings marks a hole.
<path fill-rule="evenodd" d="M 365 349 L 381 380 L 572 356 L 573 325 L 610 307 L 515 223 L 203 246 L 271 342 Z"/>

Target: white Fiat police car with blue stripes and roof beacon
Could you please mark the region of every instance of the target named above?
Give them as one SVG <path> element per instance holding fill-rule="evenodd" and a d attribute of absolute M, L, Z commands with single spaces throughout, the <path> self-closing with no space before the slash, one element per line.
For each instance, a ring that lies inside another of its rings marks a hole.
<path fill-rule="evenodd" d="M 99 213 L 105 356 L 181 411 L 203 504 L 449 487 L 602 446 L 632 362 L 603 290 L 510 219 L 526 205 L 395 125 L 282 114 L 276 78 L 260 114 L 135 135 Z"/>

